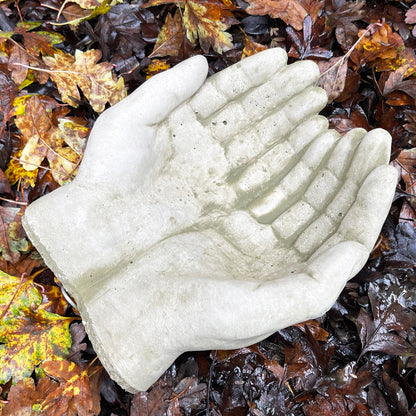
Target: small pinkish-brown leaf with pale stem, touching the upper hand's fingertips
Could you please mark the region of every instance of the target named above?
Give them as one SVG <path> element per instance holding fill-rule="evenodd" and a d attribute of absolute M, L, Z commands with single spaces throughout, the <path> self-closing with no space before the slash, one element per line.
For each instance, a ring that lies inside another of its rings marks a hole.
<path fill-rule="evenodd" d="M 338 98 L 345 87 L 348 70 L 348 59 L 345 56 L 331 58 L 329 61 L 319 61 L 321 76 L 317 86 L 323 88 L 328 95 L 328 103 Z"/>

